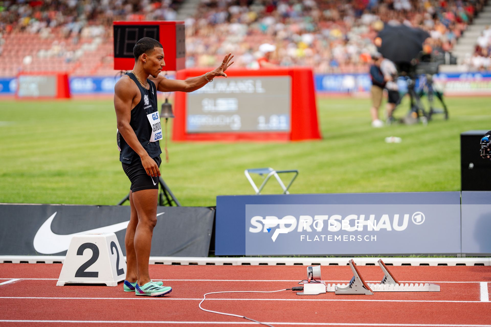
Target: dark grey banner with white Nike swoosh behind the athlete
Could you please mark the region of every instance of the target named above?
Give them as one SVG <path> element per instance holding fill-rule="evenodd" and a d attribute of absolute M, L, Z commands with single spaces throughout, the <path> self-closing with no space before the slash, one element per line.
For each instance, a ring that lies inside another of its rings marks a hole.
<path fill-rule="evenodd" d="M 215 210 L 157 208 L 151 256 L 208 256 Z M 130 207 L 0 204 L 0 255 L 65 255 L 77 233 L 113 232 L 126 255 Z"/>

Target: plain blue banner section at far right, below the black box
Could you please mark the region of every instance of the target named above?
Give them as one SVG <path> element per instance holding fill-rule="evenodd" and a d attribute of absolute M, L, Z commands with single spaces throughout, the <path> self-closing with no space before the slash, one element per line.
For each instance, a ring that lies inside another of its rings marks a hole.
<path fill-rule="evenodd" d="M 491 192 L 462 192 L 462 252 L 491 253 Z"/>

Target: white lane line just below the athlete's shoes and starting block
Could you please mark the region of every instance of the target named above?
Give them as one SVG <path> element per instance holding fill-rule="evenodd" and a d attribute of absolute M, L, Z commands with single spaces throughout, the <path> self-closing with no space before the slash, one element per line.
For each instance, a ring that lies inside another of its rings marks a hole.
<path fill-rule="evenodd" d="M 132 298 L 60 298 L 60 297 L 7 297 L 2 296 L 0 299 L 30 299 L 30 300 L 150 300 L 152 298 L 132 297 Z M 154 299 L 152 299 L 154 300 Z M 203 298 L 160 298 L 160 301 L 201 301 Z M 155 301 L 155 300 L 154 300 Z M 451 303 L 481 303 L 481 301 L 451 301 L 451 300 L 361 300 L 361 299 L 206 299 L 206 301 L 332 301 L 332 302 L 451 302 Z"/>

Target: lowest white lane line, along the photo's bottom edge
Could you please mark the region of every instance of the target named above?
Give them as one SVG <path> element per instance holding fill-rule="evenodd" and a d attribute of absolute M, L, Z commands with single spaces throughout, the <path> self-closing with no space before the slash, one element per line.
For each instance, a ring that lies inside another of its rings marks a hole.
<path fill-rule="evenodd" d="M 0 323 L 93 323 L 93 324 L 194 324 L 194 325 L 257 325 L 249 322 L 225 322 L 225 321 L 119 321 L 119 320 L 0 320 Z M 424 326 L 424 327 L 491 327 L 491 325 L 447 325 L 447 324 L 370 324 L 370 323 L 283 323 L 267 322 L 270 325 L 293 325 L 293 326 Z"/>

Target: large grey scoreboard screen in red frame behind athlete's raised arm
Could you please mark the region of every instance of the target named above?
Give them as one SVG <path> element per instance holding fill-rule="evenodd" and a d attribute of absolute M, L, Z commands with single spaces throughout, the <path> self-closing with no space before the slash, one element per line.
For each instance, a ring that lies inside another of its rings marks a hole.
<path fill-rule="evenodd" d="M 290 131 L 290 76 L 215 78 L 188 93 L 186 130 Z"/>

